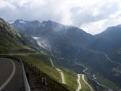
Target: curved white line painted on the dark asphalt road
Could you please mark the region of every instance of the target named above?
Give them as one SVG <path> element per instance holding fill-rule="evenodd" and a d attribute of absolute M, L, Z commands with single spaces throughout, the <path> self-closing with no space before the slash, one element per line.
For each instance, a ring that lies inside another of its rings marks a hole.
<path fill-rule="evenodd" d="M 15 63 L 12 60 L 10 60 L 10 62 L 13 65 L 13 71 L 10 74 L 10 76 L 8 77 L 8 79 L 0 86 L 0 91 L 2 91 L 2 89 L 5 88 L 5 86 L 11 81 L 11 79 L 13 78 L 13 76 L 15 74 L 15 71 L 16 71 Z"/>

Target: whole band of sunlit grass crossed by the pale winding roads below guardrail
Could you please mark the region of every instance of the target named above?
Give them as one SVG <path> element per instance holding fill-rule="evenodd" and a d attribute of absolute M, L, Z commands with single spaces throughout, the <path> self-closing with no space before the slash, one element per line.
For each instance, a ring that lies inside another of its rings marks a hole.
<path fill-rule="evenodd" d="M 49 63 L 49 58 L 44 54 L 33 54 L 28 56 L 23 56 L 22 59 L 24 62 L 26 62 L 29 65 L 33 65 L 37 69 L 40 70 L 40 72 L 45 73 L 51 79 L 57 81 L 61 84 L 61 77 L 58 71 L 55 70 L 55 68 L 51 67 Z M 77 75 L 62 69 L 65 75 L 66 84 L 62 84 L 65 86 L 69 91 L 75 91 L 78 87 L 77 84 Z M 82 84 L 82 91 L 90 91 L 89 87 L 81 80 Z"/>

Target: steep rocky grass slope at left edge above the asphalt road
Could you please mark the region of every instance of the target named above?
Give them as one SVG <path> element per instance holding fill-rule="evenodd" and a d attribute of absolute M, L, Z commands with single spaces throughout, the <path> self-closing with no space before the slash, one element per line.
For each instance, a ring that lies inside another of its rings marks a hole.
<path fill-rule="evenodd" d="M 20 36 L 8 23 L 0 18 L 0 53 L 6 53 L 22 48 Z"/>

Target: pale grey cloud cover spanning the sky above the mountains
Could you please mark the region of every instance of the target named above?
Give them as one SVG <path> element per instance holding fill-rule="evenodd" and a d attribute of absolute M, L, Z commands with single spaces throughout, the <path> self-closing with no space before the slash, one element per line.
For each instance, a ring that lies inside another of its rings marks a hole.
<path fill-rule="evenodd" d="M 61 22 L 63 24 L 65 24 L 65 21 L 67 21 L 67 23 L 71 22 L 70 24 L 73 24 L 74 26 L 78 27 L 84 24 L 91 25 L 91 23 L 93 24 L 94 22 L 98 22 L 105 19 L 107 19 L 107 21 L 110 22 L 110 15 L 117 16 L 116 13 L 120 13 L 121 8 L 119 7 L 119 5 L 121 5 L 120 0 L 104 0 L 103 2 L 102 0 L 99 0 L 100 3 L 98 2 L 94 6 L 89 5 L 87 7 L 83 7 L 83 5 L 79 6 L 78 4 L 73 5 L 66 3 L 66 1 L 71 2 L 73 0 L 43 0 L 43 5 L 39 5 L 39 1 L 41 0 L 2 1 L 6 2 L 6 6 L 1 7 L 0 3 L 0 17 L 8 21 L 16 19 L 40 21 L 54 20 L 56 22 Z M 27 2 L 21 4 L 22 1 Z M 95 1 L 97 0 L 93 0 L 93 2 Z M 98 14 L 96 15 L 94 15 L 95 10 L 98 12 Z"/>

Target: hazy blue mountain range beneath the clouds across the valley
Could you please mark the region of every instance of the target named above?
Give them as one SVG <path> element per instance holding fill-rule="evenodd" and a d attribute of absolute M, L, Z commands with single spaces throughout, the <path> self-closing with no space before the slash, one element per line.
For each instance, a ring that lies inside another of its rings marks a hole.
<path fill-rule="evenodd" d="M 90 72 L 103 75 L 121 87 L 121 74 L 114 71 L 120 69 L 120 65 L 110 62 L 107 58 L 109 55 L 111 59 L 120 61 L 120 55 L 117 54 L 121 47 L 120 26 L 110 27 L 95 36 L 77 27 L 64 26 L 53 21 L 22 23 L 17 20 L 12 26 L 30 37 L 38 37 L 40 43 L 45 41 L 43 43 L 47 43 L 47 50 L 54 55 L 58 65 L 77 73 L 82 72 L 86 66 Z"/>

